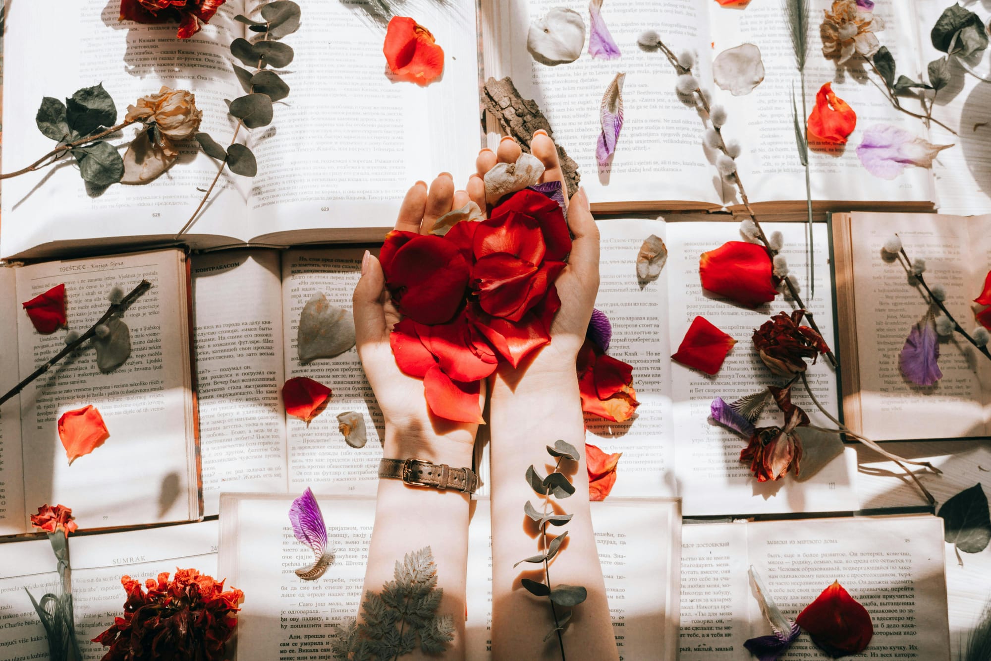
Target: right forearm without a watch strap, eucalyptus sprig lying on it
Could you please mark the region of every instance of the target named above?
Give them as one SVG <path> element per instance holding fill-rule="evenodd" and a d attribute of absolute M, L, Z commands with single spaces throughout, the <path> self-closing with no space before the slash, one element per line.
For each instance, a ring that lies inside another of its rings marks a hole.
<path fill-rule="evenodd" d="M 512 387 L 510 387 L 510 383 Z M 554 628 L 547 597 L 531 595 L 520 579 L 545 583 L 543 565 L 513 564 L 540 552 L 539 530 L 523 513 L 529 500 L 543 511 L 540 496 L 525 479 L 527 467 L 546 475 L 554 469 L 546 446 L 562 439 L 579 450 L 582 459 L 564 460 L 561 470 L 575 485 L 575 493 L 557 501 L 559 512 L 574 514 L 564 526 L 548 526 L 548 535 L 568 532 L 568 541 L 550 562 L 550 587 L 582 586 L 588 598 L 571 608 L 555 606 L 560 617 L 572 610 L 571 625 L 563 635 L 570 661 L 617 659 L 606 601 L 606 588 L 589 506 L 589 477 L 585 463 L 585 424 L 578 380 L 574 370 L 556 375 L 541 373 L 518 383 L 510 377 L 495 379 L 492 395 L 492 526 L 493 526 L 493 655 L 500 659 L 560 659 L 557 636 L 546 643 Z"/>

